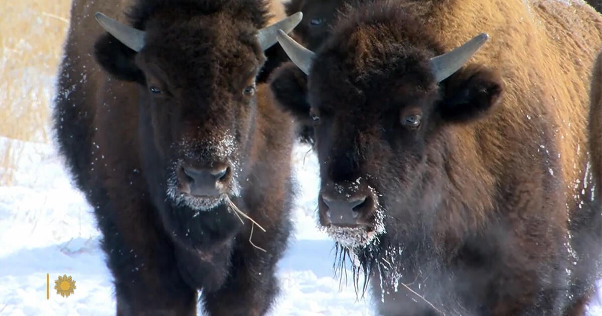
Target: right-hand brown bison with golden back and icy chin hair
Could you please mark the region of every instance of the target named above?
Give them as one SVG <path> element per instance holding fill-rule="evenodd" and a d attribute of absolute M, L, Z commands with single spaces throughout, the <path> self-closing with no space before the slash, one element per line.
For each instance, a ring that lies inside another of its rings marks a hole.
<path fill-rule="evenodd" d="M 302 72 L 271 86 L 296 115 L 311 105 L 319 224 L 381 314 L 583 314 L 602 250 L 583 74 L 601 31 L 584 4 L 408 0 L 347 13 L 315 53 L 279 34 Z"/>

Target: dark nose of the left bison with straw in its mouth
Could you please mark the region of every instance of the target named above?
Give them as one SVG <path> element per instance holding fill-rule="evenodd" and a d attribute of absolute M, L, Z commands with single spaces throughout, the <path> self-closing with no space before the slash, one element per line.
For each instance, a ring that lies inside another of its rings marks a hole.
<path fill-rule="evenodd" d="M 182 185 L 190 188 L 190 194 L 194 196 L 219 196 L 218 184 L 226 178 L 228 170 L 228 167 L 215 169 L 182 167 L 180 181 Z"/>

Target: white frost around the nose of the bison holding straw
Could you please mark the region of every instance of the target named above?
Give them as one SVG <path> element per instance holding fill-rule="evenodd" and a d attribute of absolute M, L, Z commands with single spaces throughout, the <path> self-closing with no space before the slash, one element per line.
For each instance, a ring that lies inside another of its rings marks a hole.
<path fill-rule="evenodd" d="M 177 206 L 187 206 L 195 211 L 210 211 L 225 202 L 225 196 L 238 197 L 241 193 L 239 174 L 240 163 L 237 159 L 237 144 L 231 132 L 226 130 L 219 137 L 214 137 L 202 142 L 182 140 L 176 145 L 178 160 L 169 167 L 167 178 L 167 199 L 172 200 Z M 231 178 L 228 183 L 216 184 L 220 191 L 219 197 L 196 197 L 180 190 L 176 170 L 184 161 L 225 161 L 231 169 Z"/>

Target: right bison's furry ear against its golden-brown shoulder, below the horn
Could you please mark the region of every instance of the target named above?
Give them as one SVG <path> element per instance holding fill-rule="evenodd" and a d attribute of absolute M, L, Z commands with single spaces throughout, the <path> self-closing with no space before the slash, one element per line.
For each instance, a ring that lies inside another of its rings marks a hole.
<path fill-rule="evenodd" d="M 445 79 L 445 97 L 439 105 L 442 119 L 451 123 L 477 120 L 499 103 L 503 81 L 495 70 L 467 66 Z"/>

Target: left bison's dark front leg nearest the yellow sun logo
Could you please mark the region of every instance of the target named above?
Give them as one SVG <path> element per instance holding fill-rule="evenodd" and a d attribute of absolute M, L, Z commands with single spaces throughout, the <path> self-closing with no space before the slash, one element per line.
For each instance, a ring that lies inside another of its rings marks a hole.
<path fill-rule="evenodd" d="M 182 280 L 173 244 L 152 207 L 131 199 L 109 201 L 96 204 L 95 211 L 114 277 L 117 315 L 196 315 L 196 291 Z"/>

